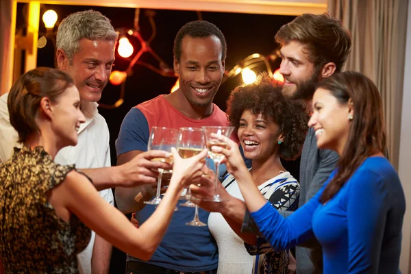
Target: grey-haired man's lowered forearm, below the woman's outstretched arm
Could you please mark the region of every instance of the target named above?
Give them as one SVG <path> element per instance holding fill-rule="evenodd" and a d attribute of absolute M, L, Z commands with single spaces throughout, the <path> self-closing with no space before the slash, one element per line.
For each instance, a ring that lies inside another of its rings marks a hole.
<path fill-rule="evenodd" d="M 112 244 L 96 234 L 91 256 L 92 274 L 108 274 L 110 271 L 111 253 Z"/>

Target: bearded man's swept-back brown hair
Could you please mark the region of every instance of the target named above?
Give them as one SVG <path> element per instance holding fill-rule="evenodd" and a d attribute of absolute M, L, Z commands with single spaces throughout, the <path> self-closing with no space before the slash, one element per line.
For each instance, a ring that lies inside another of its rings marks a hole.
<path fill-rule="evenodd" d="M 333 62 L 342 71 L 351 50 L 351 34 L 337 18 L 324 14 L 303 14 L 283 25 L 275 35 L 279 45 L 297 41 L 306 46 L 317 69 Z"/>

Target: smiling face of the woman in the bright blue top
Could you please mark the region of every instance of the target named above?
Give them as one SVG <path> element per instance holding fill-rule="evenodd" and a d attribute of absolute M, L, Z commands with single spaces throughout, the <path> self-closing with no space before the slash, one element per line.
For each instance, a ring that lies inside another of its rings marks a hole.
<path fill-rule="evenodd" d="M 341 104 L 331 92 L 318 88 L 312 98 L 312 113 L 308 126 L 313 127 L 317 147 L 332 149 L 342 155 L 349 135 L 349 116 L 353 115 L 348 103 Z"/>

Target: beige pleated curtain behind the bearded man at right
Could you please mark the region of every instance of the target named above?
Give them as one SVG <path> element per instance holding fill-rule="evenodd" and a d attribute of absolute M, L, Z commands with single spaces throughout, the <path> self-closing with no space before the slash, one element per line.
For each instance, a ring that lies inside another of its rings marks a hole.
<path fill-rule="evenodd" d="M 328 0 L 327 8 L 351 32 L 345 71 L 363 73 L 381 92 L 388 155 L 398 170 L 408 0 Z"/>

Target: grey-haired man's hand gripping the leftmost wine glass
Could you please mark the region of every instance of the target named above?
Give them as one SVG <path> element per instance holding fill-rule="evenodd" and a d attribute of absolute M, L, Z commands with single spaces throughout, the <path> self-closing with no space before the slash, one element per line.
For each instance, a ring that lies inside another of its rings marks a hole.
<path fill-rule="evenodd" d="M 132 188 L 142 184 L 155 184 L 158 169 L 172 169 L 171 164 L 162 161 L 151 161 L 154 158 L 166 158 L 166 151 L 146 151 L 136 155 L 132 160 L 119 166 L 121 169 L 121 187 Z"/>

